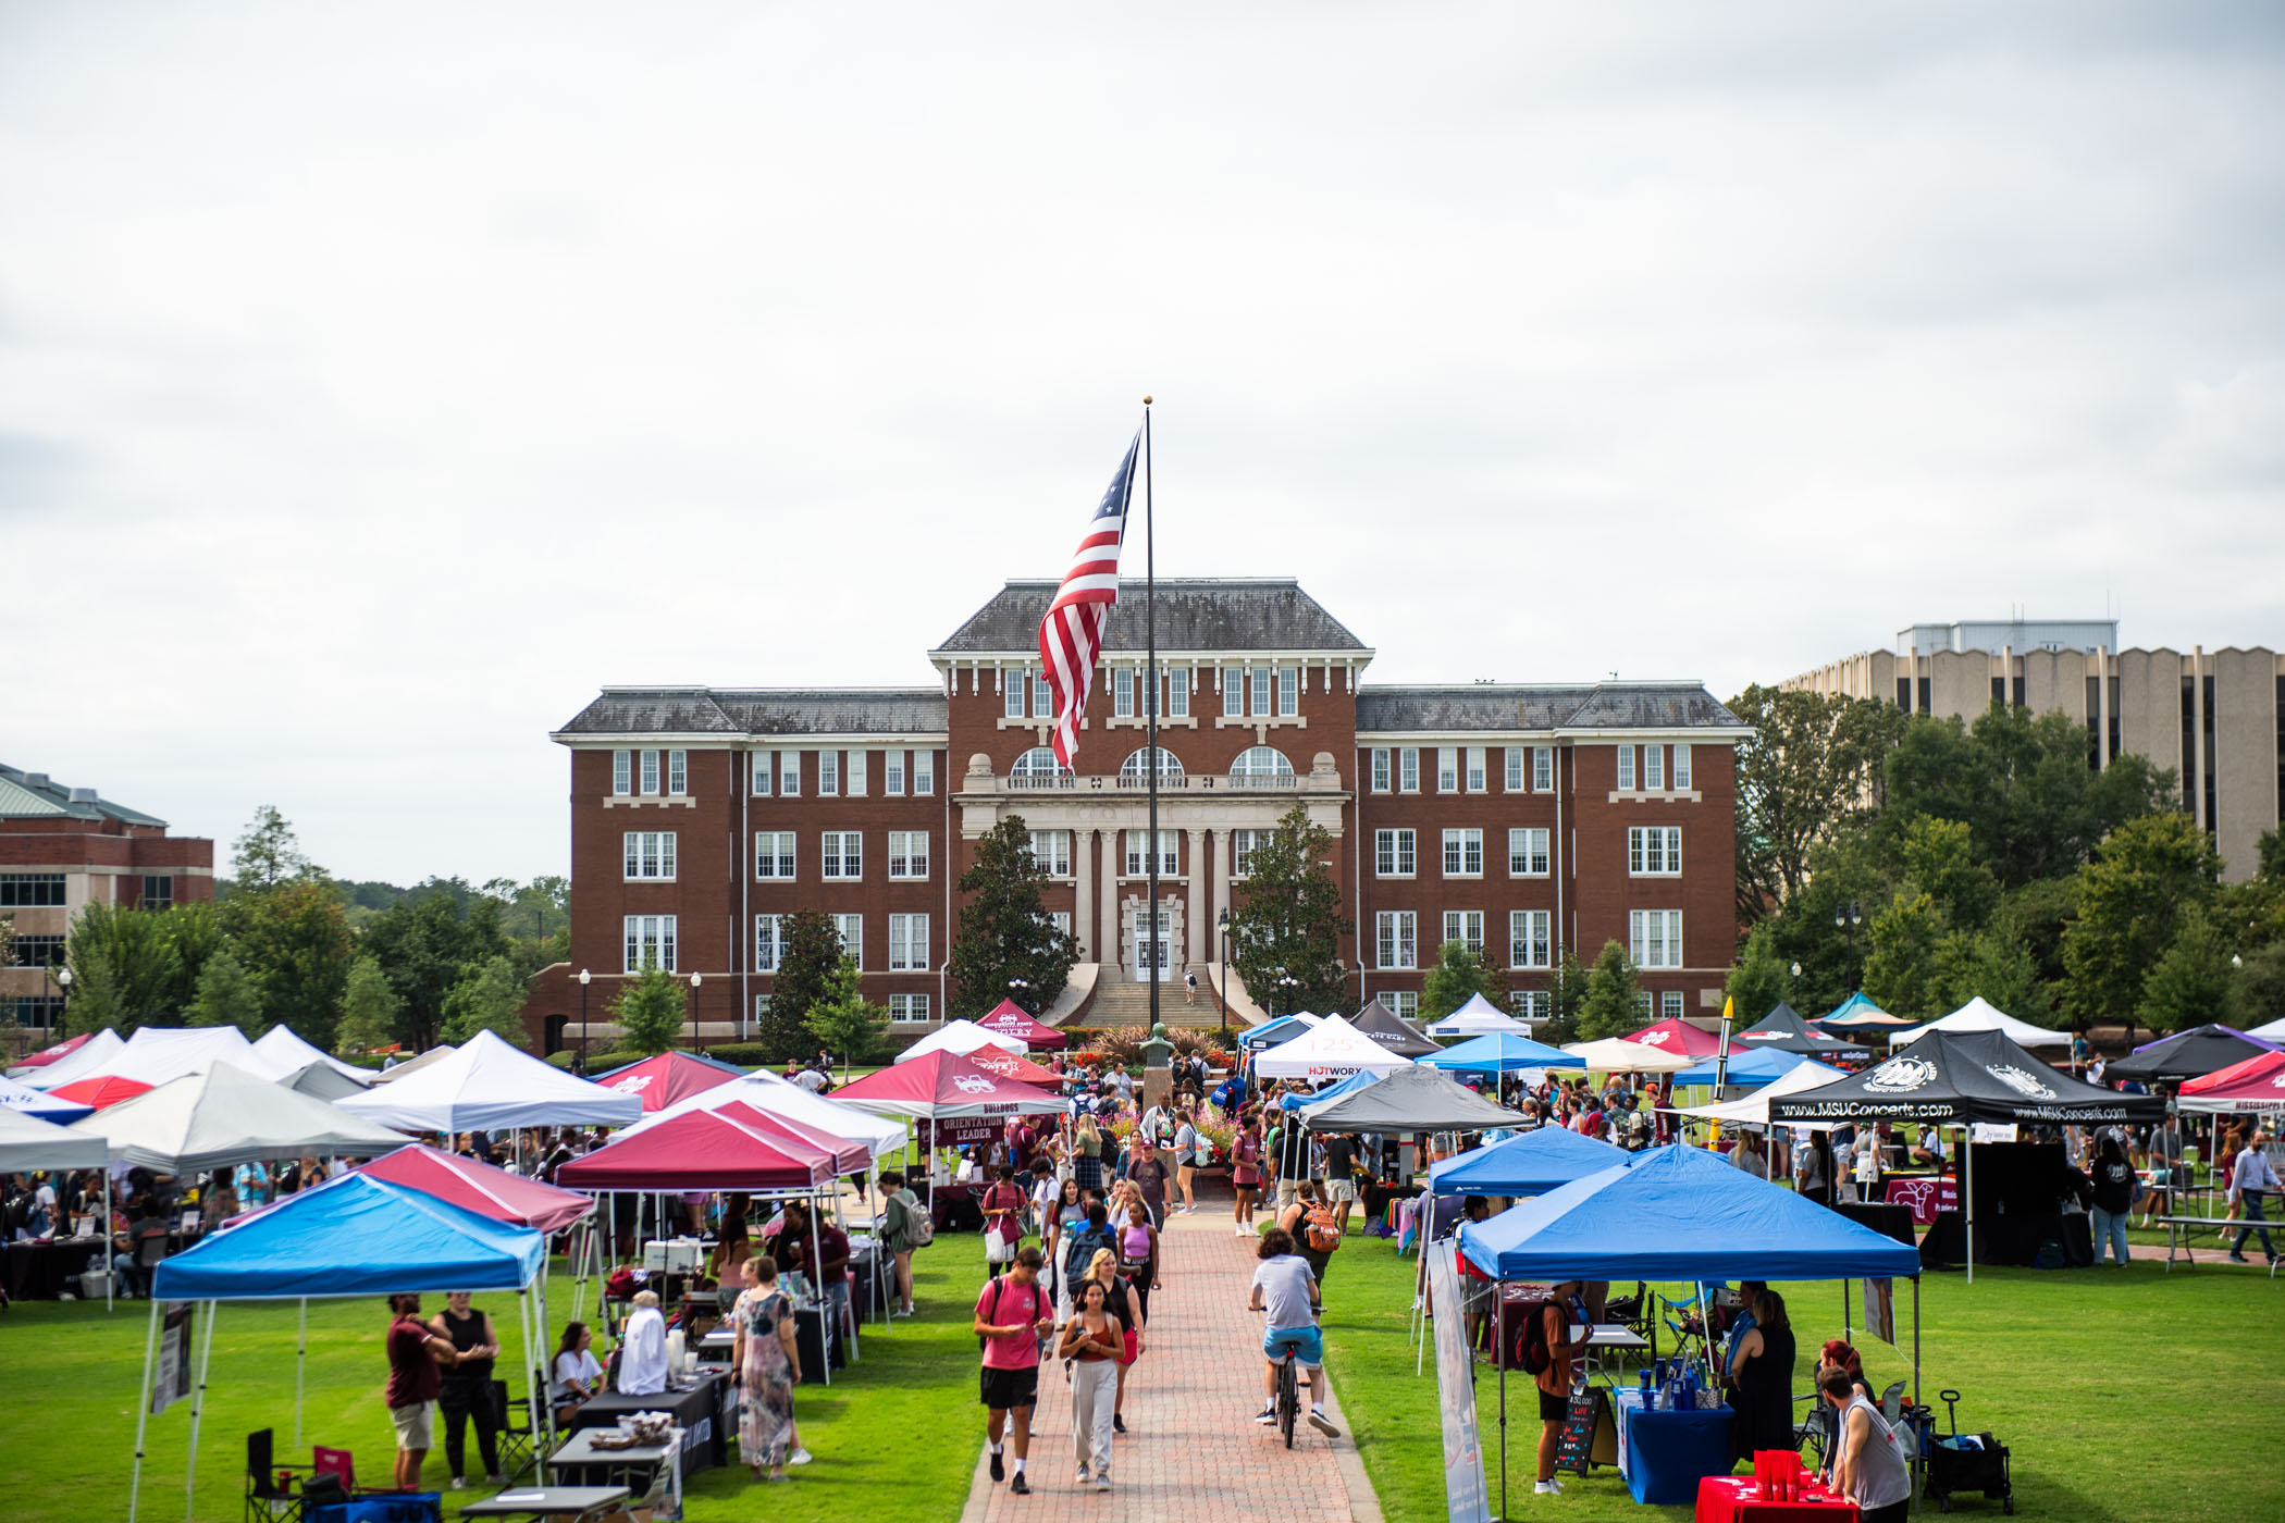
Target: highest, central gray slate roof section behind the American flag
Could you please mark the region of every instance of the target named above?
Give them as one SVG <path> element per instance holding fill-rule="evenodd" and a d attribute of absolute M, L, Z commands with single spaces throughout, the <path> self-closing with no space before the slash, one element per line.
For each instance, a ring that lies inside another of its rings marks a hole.
<path fill-rule="evenodd" d="M 937 646 L 937 655 L 1040 648 L 1058 582 L 1008 582 Z M 1293 578 L 1158 578 L 1158 651 L 1369 651 Z M 1142 582 L 1120 580 L 1106 651 L 1142 651 Z"/>

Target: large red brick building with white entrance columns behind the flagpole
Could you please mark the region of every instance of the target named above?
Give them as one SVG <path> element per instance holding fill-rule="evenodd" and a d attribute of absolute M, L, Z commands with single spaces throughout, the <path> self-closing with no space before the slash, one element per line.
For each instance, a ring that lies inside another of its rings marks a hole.
<path fill-rule="evenodd" d="M 553 735 L 571 751 L 571 961 L 535 984 L 535 1034 L 553 1048 L 576 1030 L 576 970 L 599 1023 L 656 957 L 729 1039 L 768 1000 L 795 909 L 839 918 L 900 1023 L 941 1021 L 953 881 L 1008 815 L 1035 831 L 1049 911 L 1081 945 L 1047 1018 L 1136 1018 L 1154 950 L 1181 1018 L 1184 970 L 1220 984 L 1213 927 L 1254 833 L 1296 804 L 1339 843 L 1357 996 L 1408 1012 L 1442 941 L 1465 938 L 1545 1007 L 1563 945 L 1590 961 L 1620 941 L 1659 1014 L 1721 1002 L 1743 728 L 1698 683 L 1376 687 L 1373 648 L 1291 580 L 1158 582 L 1154 936 L 1142 589 L 1108 623 L 1076 774 L 1047 751 L 1051 596 L 1001 589 L 928 653 L 930 687 L 603 690 Z"/>

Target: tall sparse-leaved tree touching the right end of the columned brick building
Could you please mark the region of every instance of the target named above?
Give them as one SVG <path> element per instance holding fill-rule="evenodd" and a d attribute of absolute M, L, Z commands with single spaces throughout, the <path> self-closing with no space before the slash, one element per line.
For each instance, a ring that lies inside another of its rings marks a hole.
<path fill-rule="evenodd" d="M 1730 710 L 1737 747 L 1737 909 L 1778 913 L 1810 879 L 1810 847 L 1878 801 L 1881 763 L 1903 715 L 1874 699 L 1748 687 Z"/>

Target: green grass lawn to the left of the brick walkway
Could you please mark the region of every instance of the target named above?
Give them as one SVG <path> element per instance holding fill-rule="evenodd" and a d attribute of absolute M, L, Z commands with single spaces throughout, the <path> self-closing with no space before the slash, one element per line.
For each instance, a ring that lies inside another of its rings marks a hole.
<path fill-rule="evenodd" d="M 802 1443 L 816 1464 L 793 1470 L 788 1486 L 761 1486 L 743 1468 L 708 1470 L 692 1482 L 688 1516 L 695 1523 L 752 1518 L 768 1512 L 784 1523 L 864 1518 L 866 1523 L 941 1523 L 960 1516 L 983 1423 L 976 1409 L 976 1338 L 969 1306 L 980 1281 L 983 1254 L 973 1238 L 948 1238 L 916 1256 L 919 1317 L 866 1333 L 864 1361 L 834 1375 L 832 1386 L 804 1384 L 795 1393 Z M 569 1292 L 553 1288 L 555 1315 L 569 1315 Z M 441 1306 L 430 1297 L 425 1308 Z M 484 1295 L 478 1306 L 514 1349 L 514 1297 Z M 592 1299 L 590 1299 L 592 1308 Z M 16 1461 L 16 1500 L 7 1516 L 21 1523 L 85 1523 L 123 1518 L 135 1454 L 135 1395 L 142 1381 L 146 1302 L 121 1302 L 105 1313 L 87 1302 L 21 1302 L 0 1315 L 0 1454 Z M 276 1432 L 279 1459 L 308 1464 L 311 1441 L 356 1454 L 361 1480 L 388 1480 L 395 1439 L 382 1409 L 386 1361 L 382 1333 L 388 1313 L 375 1297 L 311 1302 L 304 1452 L 292 1441 L 295 1306 L 226 1304 L 215 1324 L 215 1354 L 206 1416 L 199 1429 L 197 1518 L 217 1523 L 242 1516 L 247 1432 Z M 503 1368 L 510 1361 L 503 1359 Z M 521 1381 L 516 1381 L 521 1391 Z M 443 1427 L 425 1482 L 441 1489 Z M 144 1464 L 142 1516 L 181 1518 L 190 1445 L 190 1404 L 151 1418 Z M 468 1439 L 475 1466 L 475 1436 Z M 733 1454 L 736 1457 L 736 1454 Z M 446 1493 L 489 1496 L 475 1486 Z"/>

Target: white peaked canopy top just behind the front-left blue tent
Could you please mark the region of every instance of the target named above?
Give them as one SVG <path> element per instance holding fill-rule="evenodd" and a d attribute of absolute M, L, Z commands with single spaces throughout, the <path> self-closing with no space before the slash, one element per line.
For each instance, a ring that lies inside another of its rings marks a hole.
<path fill-rule="evenodd" d="M 233 1064 L 167 1080 L 73 1121 L 71 1130 L 101 1137 L 112 1162 L 174 1176 L 265 1158 L 366 1158 L 393 1153 L 407 1142 L 386 1126 Z"/>

